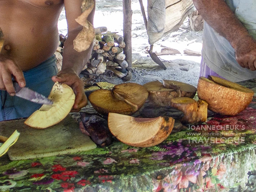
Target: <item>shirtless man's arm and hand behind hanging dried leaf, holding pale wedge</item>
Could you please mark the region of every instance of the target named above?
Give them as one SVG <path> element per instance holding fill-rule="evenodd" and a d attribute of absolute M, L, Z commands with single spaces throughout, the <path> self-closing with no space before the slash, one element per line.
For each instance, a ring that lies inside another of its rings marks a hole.
<path fill-rule="evenodd" d="M 78 52 L 74 49 L 73 40 L 83 29 L 83 26 L 75 21 L 82 14 L 81 3 L 82 0 L 64 0 L 68 22 L 68 38 L 64 44 L 62 69 L 57 76 L 52 78 L 53 81 L 66 83 L 73 89 L 76 96 L 73 111 L 79 111 L 83 106 L 87 105 L 87 99 L 83 89 L 84 84 L 78 75 L 86 65 L 92 51 L 92 44 L 86 51 Z M 93 23 L 94 12 L 95 6 L 87 18 L 90 23 Z"/>

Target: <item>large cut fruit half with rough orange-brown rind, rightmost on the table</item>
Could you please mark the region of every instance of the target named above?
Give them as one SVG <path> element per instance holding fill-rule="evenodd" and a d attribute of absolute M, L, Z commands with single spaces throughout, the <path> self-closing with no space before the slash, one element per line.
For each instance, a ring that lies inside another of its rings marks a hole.
<path fill-rule="evenodd" d="M 208 103 L 208 109 L 223 115 L 236 115 L 252 101 L 254 92 L 215 76 L 200 77 L 198 97 Z"/>

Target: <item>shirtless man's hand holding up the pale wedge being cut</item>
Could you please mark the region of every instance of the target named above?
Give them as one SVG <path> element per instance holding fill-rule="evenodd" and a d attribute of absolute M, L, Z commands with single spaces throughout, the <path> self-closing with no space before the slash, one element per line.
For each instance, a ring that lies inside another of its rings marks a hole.
<path fill-rule="evenodd" d="M 87 105 L 87 98 L 84 94 L 84 84 L 72 69 L 61 70 L 56 76 L 52 77 L 54 82 L 65 83 L 70 86 L 75 93 L 75 103 L 71 112 L 79 112 L 82 107 Z"/>

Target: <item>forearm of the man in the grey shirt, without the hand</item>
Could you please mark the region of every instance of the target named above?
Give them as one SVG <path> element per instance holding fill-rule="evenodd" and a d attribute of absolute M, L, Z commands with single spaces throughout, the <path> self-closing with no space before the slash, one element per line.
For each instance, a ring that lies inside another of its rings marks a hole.
<path fill-rule="evenodd" d="M 193 0 L 204 20 L 221 36 L 224 36 L 234 49 L 245 36 L 250 36 L 243 24 L 235 17 L 224 0 Z"/>

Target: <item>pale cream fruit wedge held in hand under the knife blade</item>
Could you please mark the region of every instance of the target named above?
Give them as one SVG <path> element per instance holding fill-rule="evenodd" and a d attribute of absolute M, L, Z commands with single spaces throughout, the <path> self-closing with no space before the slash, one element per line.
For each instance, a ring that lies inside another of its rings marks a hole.
<path fill-rule="evenodd" d="M 48 97 L 53 105 L 42 105 L 24 122 L 26 125 L 43 129 L 62 121 L 72 109 L 75 102 L 73 90 L 66 84 L 56 82 Z"/>

